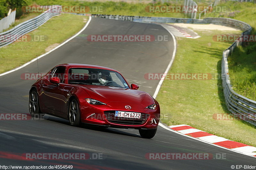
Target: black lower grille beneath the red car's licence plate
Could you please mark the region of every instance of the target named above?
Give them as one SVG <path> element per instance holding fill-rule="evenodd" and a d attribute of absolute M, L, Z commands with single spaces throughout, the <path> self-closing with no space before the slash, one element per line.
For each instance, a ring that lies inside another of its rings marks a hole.
<path fill-rule="evenodd" d="M 105 117 L 110 123 L 116 123 L 120 125 L 140 125 L 143 124 L 149 117 L 149 114 L 141 113 L 140 119 L 138 118 L 126 118 L 126 117 L 116 117 L 115 110 L 105 111 Z"/>

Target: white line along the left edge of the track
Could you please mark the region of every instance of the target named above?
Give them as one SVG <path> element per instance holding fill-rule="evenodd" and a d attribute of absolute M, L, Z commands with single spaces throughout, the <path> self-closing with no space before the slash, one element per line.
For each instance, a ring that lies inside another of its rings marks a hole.
<path fill-rule="evenodd" d="M 89 25 L 89 23 L 91 22 L 91 20 L 92 20 L 92 17 L 90 16 L 90 17 L 89 17 L 89 20 L 87 21 L 87 23 L 85 24 L 85 26 L 84 26 L 78 33 L 76 33 L 74 36 L 70 37 L 68 40 L 62 42 L 62 43 L 61 43 L 60 45 L 58 45 L 57 47 L 55 47 L 55 48 L 53 48 L 52 50 L 48 51 L 47 53 L 44 53 L 43 55 L 38 56 L 37 58 L 39 59 L 39 58 L 44 57 L 45 55 L 51 53 L 51 52 L 54 51 L 55 49 L 57 49 L 57 48 L 63 46 L 63 45 L 66 44 L 68 41 L 70 41 L 70 40 L 72 40 L 73 38 L 75 38 L 77 35 L 79 35 L 80 33 L 82 33 L 82 32 L 85 30 L 85 28 Z M 10 70 L 10 71 L 7 71 L 7 72 L 4 72 L 4 73 L 0 74 L 0 76 L 4 76 L 4 75 L 9 74 L 9 73 L 11 73 L 11 72 L 13 72 L 13 71 L 20 70 L 21 68 L 27 66 L 27 65 L 30 64 L 30 63 L 33 63 L 34 61 L 36 61 L 36 58 L 34 58 L 33 60 L 31 60 L 31 61 L 28 62 L 28 63 L 23 64 L 23 65 L 20 66 L 20 67 L 17 67 L 17 68 L 15 68 L 15 69 L 13 69 L 13 70 Z"/>

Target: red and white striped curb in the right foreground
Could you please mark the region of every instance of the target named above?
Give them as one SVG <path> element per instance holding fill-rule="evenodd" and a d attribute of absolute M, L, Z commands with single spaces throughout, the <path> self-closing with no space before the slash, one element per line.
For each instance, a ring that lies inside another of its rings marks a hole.
<path fill-rule="evenodd" d="M 224 148 L 231 149 L 236 152 L 241 152 L 246 155 L 251 155 L 256 157 L 256 147 L 242 144 L 239 142 L 231 141 L 223 137 L 218 137 L 216 135 L 212 135 L 210 133 L 204 132 L 199 129 L 195 129 L 189 125 L 181 124 L 181 125 L 173 125 L 169 126 L 172 130 L 180 132 L 181 134 L 188 135 L 190 137 L 195 137 L 204 142 L 208 142 L 211 144 L 216 144 Z"/>

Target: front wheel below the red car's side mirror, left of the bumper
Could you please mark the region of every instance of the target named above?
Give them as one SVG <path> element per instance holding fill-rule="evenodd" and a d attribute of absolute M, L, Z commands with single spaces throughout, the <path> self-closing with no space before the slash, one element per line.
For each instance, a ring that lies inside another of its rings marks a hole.
<path fill-rule="evenodd" d="M 71 126 L 80 126 L 80 109 L 76 99 L 71 99 L 68 107 L 68 120 Z"/>

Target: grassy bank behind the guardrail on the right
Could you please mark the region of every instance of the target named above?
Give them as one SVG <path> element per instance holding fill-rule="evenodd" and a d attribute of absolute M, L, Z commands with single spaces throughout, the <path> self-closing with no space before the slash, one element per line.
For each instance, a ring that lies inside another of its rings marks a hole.
<path fill-rule="evenodd" d="M 227 12 L 209 13 L 206 17 L 226 17 L 244 21 L 252 26 L 252 35 L 256 34 L 256 4 L 226 2 Z M 228 57 L 229 75 L 233 90 L 249 99 L 256 100 L 256 44 L 244 43 Z"/>

